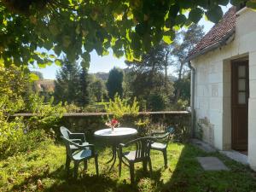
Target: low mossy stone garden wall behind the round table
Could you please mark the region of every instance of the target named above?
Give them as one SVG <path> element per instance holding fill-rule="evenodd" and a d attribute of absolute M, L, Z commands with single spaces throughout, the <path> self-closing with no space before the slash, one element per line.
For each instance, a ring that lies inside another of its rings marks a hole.
<path fill-rule="evenodd" d="M 14 116 L 23 116 L 29 118 L 35 114 L 17 113 Z M 71 131 L 84 132 L 86 135 L 93 135 L 94 131 L 106 128 L 105 122 L 109 113 L 65 113 L 59 122 L 59 126 L 66 126 Z M 150 120 L 147 126 L 138 126 L 136 121 Z M 190 113 L 186 111 L 170 111 L 170 112 L 140 112 L 137 117 L 125 116 L 120 119 L 121 126 L 134 127 L 140 133 L 150 130 L 159 129 L 160 125 L 173 126 L 176 131 L 178 140 L 186 140 L 190 133 Z M 55 130 L 59 134 L 59 130 Z"/>

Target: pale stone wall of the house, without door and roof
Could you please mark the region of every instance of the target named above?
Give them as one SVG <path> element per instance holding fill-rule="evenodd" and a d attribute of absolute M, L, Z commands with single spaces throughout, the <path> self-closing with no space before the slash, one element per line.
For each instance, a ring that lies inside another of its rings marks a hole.
<path fill-rule="evenodd" d="M 191 61 L 195 67 L 195 111 L 214 125 L 214 146 L 231 146 L 230 60 L 249 56 L 248 160 L 256 170 L 256 12 L 245 9 L 236 18 L 234 41 Z M 254 148 L 254 149 L 253 149 Z"/>

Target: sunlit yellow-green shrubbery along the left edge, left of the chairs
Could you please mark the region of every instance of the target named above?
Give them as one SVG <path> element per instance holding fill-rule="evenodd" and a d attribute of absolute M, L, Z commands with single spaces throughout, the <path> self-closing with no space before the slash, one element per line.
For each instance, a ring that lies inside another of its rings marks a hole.
<path fill-rule="evenodd" d="M 51 106 L 53 99 L 50 104 L 44 105 L 44 97 L 28 96 L 29 80 L 29 73 L 19 67 L 0 66 L 0 158 L 36 148 L 38 143 L 49 141 L 52 133 L 39 128 L 54 125 L 63 113 L 61 105 Z M 11 116 L 24 111 L 38 113 L 38 116 L 27 120 Z"/>

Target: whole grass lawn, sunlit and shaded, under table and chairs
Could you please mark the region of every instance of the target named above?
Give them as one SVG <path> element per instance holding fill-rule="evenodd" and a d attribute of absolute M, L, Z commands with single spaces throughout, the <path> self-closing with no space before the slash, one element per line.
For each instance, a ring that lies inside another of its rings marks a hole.
<path fill-rule="evenodd" d="M 103 143 L 97 146 L 100 176 L 96 177 L 94 160 L 89 169 L 79 167 L 79 178 L 67 177 L 65 148 L 54 143 L 42 143 L 37 150 L 17 154 L 0 161 L 0 191 L 256 191 L 255 173 L 222 154 L 207 154 L 190 144 L 172 143 L 168 147 L 168 168 L 163 156 L 152 152 L 153 176 L 136 166 L 136 183 L 130 184 L 129 168 L 123 166 L 118 177 L 118 165 L 108 172 L 106 161 L 110 148 Z M 195 157 L 217 156 L 230 168 L 229 172 L 205 172 Z"/>

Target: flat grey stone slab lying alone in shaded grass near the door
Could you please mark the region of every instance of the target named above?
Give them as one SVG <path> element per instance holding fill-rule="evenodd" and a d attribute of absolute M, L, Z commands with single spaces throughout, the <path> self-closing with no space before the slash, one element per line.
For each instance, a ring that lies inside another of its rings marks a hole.
<path fill-rule="evenodd" d="M 197 157 L 196 158 L 205 171 L 229 171 L 230 169 L 217 157 Z"/>

